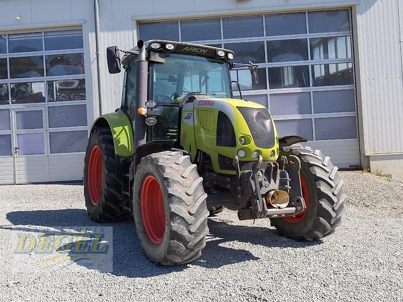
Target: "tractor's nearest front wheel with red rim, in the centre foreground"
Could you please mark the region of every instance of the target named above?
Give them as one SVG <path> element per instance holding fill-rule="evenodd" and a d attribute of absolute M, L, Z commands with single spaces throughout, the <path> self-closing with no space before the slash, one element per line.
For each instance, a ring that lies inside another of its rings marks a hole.
<path fill-rule="evenodd" d="M 207 194 L 196 165 L 181 152 L 144 157 L 133 184 L 133 216 L 147 257 L 156 264 L 190 262 L 209 232 Z"/>

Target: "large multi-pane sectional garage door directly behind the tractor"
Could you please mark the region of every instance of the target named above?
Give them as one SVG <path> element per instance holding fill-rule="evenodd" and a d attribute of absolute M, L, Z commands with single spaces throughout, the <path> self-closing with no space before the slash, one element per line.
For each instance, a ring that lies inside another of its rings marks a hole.
<path fill-rule="evenodd" d="M 142 22 L 138 36 L 234 50 L 234 62 L 259 66 L 259 82 L 247 69 L 232 80 L 271 111 L 280 136 L 307 138 L 339 168 L 360 164 L 349 9 Z"/>

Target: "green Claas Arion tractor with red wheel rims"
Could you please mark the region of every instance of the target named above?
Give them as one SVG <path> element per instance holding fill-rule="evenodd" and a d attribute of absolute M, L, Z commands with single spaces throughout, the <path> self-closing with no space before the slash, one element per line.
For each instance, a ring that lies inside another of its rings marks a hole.
<path fill-rule="evenodd" d="M 270 218 L 295 240 L 322 238 L 341 223 L 338 168 L 319 150 L 293 146 L 306 139 L 278 137 L 264 106 L 233 98 L 231 69 L 249 68 L 257 82 L 256 65 L 233 58 L 164 40 L 107 48 L 109 72 L 124 68 L 122 103 L 91 127 L 85 202 L 94 221 L 132 215 L 154 263 L 198 258 L 207 218 L 224 208 L 241 220 Z"/>

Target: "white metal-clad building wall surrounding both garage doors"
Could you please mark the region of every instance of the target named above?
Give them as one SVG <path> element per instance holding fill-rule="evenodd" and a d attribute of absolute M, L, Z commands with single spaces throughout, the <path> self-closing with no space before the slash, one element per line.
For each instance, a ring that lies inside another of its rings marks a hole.
<path fill-rule="evenodd" d="M 239 3 L 236 0 L 100 0 L 99 3 L 103 113 L 119 107 L 123 75 L 107 72 L 105 48 L 134 46 L 137 21 L 353 7 L 362 163 L 366 163 L 365 156 L 372 163 L 379 163 L 374 155 L 392 153 L 393 160 L 403 171 L 403 22 L 399 20 L 399 13 L 403 16 L 403 0 L 251 0 Z M 0 14 L 0 30 L 7 31 L 82 24 L 90 125 L 99 115 L 93 1 L 0 0 Z M 385 157 L 388 158 L 382 155 L 378 159 Z"/>

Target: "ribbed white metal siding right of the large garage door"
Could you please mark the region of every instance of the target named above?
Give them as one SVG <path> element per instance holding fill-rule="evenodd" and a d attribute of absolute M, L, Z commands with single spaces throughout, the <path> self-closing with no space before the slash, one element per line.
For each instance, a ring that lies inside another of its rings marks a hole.
<path fill-rule="evenodd" d="M 363 1 L 357 29 L 365 154 L 403 152 L 398 1 Z"/>

